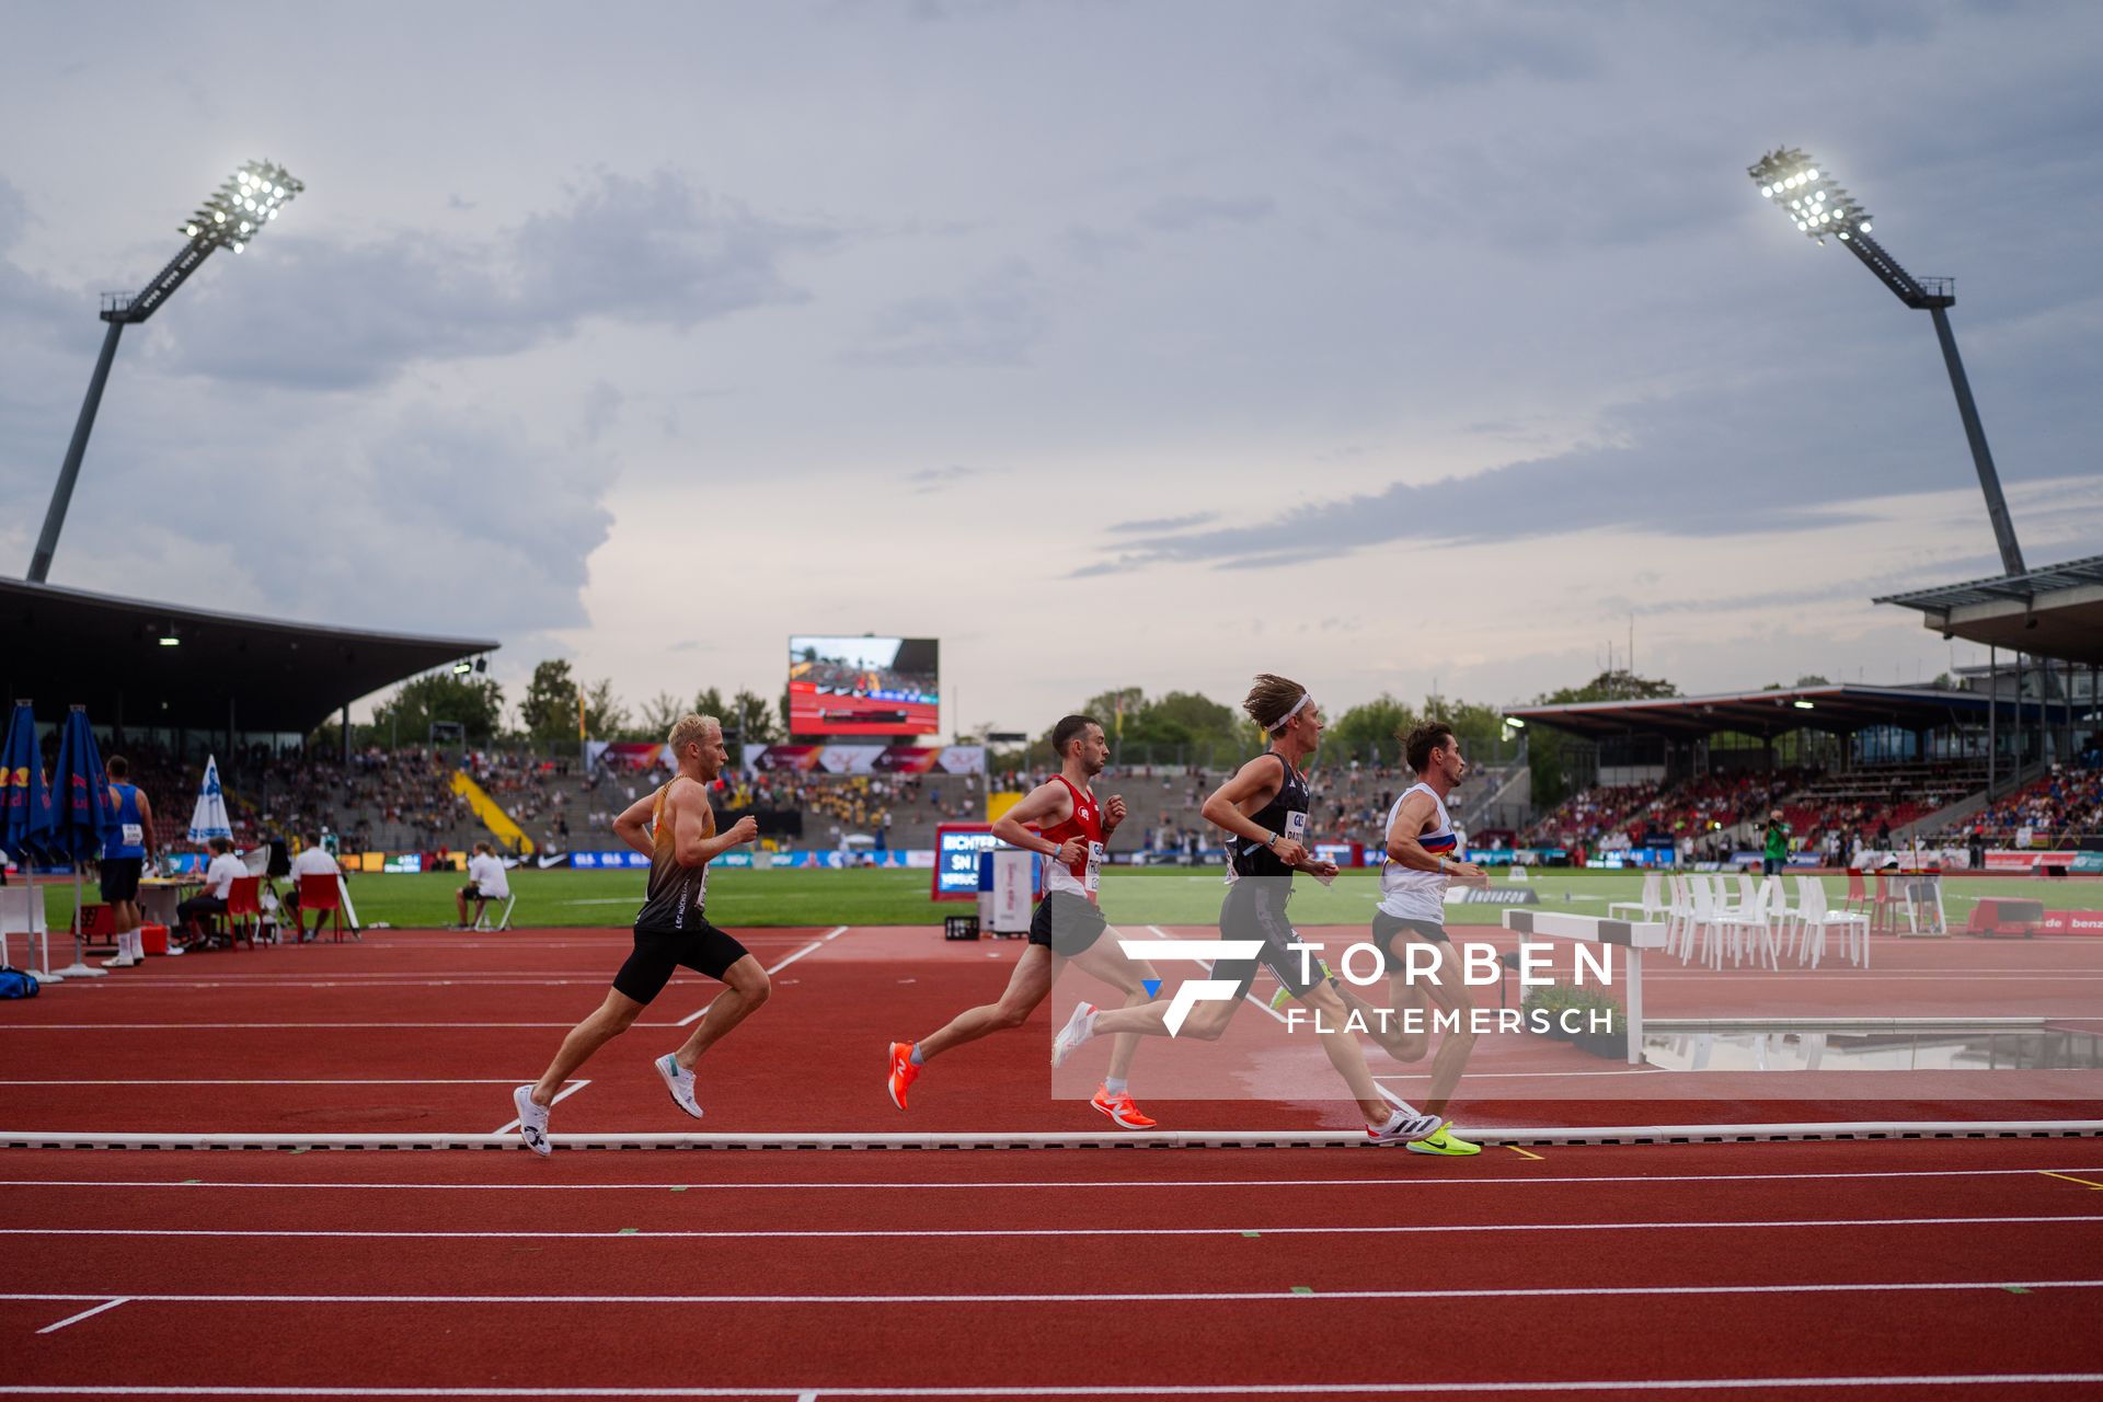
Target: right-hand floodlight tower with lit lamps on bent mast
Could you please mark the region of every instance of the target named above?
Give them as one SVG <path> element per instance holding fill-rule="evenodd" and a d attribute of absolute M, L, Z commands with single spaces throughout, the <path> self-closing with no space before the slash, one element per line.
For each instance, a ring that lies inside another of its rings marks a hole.
<path fill-rule="evenodd" d="M 1760 195 L 1788 214 L 1815 244 L 1823 244 L 1828 235 L 1840 240 L 1840 246 L 1876 273 L 1876 280 L 1891 288 L 1901 303 L 1935 317 L 1935 338 L 1943 345 L 1949 387 L 1958 395 L 1958 416 L 1964 420 L 1964 439 L 1973 450 L 1973 467 L 1979 469 L 1979 490 L 1985 492 L 1985 513 L 1994 521 L 2000 565 L 2008 574 L 2027 574 L 2023 570 L 2023 549 L 2015 542 L 2015 523 L 2008 519 L 2008 502 L 2000 494 L 2000 473 L 1994 471 L 1994 454 L 1985 446 L 1979 406 L 1973 404 L 1971 380 L 1964 378 L 1964 362 L 1958 359 L 1958 338 L 1949 330 L 1949 307 L 1958 303 L 1956 280 L 1914 277 L 1899 267 L 1899 261 L 1870 238 L 1870 214 L 1828 170 L 1802 151 L 1794 147 L 1769 151 L 1748 166 L 1745 172 L 1760 187 Z"/>

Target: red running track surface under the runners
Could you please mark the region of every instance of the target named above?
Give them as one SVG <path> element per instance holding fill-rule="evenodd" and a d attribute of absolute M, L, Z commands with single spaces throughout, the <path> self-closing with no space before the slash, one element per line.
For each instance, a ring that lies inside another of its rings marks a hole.
<path fill-rule="evenodd" d="M 1016 946 L 824 933 L 751 937 L 770 965 L 818 948 L 702 1064 L 705 1129 L 1102 1129 L 1047 1099 L 1041 1024 L 936 1061 L 898 1114 L 883 1043 L 993 996 Z M 376 931 L 63 986 L 0 1013 L 0 1125 L 492 1131 L 618 954 L 614 931 Z M 692 1129 L 648 1057 L 707 996 L 681 975 L 580 1072 L 557 1135 Z M 1251 1011 L 1213 1051 L 1253 1068 L 1277 1040 Z M 1140 1074 L 1161 1080 L 1199 1053 L 1146 1051 Z M 103 1085 L 57 1085 L 88 1080 Z M 1159 1110 L 1203 1129 L 1352 1122 L 1333 1099 Z M 1613 1101 L 1470 1112 L 1663 1118 L 1619 1085 Z M 1975 1112 L 2015 1114 L 1773 1095 L 1706 1114 Z M 2103 1190 L 2088 1183 L 2103 1183 L 2090 1139 L 1472 1160 L 15 1150 L 0 1154 L 0 1394 L 2095 1396 Z"/>

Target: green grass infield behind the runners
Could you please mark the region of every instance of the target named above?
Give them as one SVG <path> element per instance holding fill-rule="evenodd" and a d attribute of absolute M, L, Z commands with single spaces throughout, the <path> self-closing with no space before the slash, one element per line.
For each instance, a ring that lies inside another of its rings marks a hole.
<path fill-rule="evenodd" d="M 458 872 L 421 877 L 366 874 L 351 879 L 351 902 L 366 925 L 442 927 L 454 921 L 452 893 Z M 944 914 L 967 914 L 972 902 L 927 898 L 923 870 L 717 870 L 709 874 L 709 919 L 730 929 L 759 925 L 936 925 Z M 564 925 L 627 925 L 641 906 L 644 872 L 511 872 L 517 910 L 511 923 L 528 929 Z M 1495 887 L 1510 883 L 1495 877 Z M 1636 900 L 1640 872 L 1556 870 L 1533 872 L 1541 904 L 1579 914 L 1607 914 L 1607 902 Z M 1838 902 L 1844 879 L 1825 877 Z M 1102 908 L 1117 925 L 1209 925 L 1220 916 L 1220 868 L 1108 868 L 1102 872 Z M 2103 883 L 2092 879 L 1952 877 L 1945 881 L 1949 923 L 1962 927 L 1979 895 L 2042 900 L 2050 910 L 2103 908 Z M 95 885 L 88 885 L 95 900 Z M 1356 925 L 1369 921 L 1380 900 L 1380 874 L 1348 870 L 1333 887 L 1302 877 L 1291 916 L 1300 925 Z M 72 925 L 74 883 L 50 881 L 46 912 L 53 929 Z M 1449 906 L 1449 925 L 1497 925 L 1502 906 Z"/>

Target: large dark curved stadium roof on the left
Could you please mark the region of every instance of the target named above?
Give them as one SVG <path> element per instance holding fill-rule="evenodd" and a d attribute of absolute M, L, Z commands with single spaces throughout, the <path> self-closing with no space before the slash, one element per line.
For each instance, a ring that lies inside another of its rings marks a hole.
<path fill-rule="evenodd" d="M 175 645 L 164 639 L 175 637 Z M 381 687 L 496 643 L 360 633 L 0 580 L 0 700 L 97 725 L 309 731 Z"/>

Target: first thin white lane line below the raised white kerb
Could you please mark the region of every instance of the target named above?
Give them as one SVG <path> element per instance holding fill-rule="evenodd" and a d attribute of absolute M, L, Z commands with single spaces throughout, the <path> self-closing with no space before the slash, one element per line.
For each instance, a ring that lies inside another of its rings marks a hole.
<path fill-rule="evenodd" d="M 1018 1188 L 1510 1188 L 1516 1183 L 1798 1183 L 1798 1181 L 1870 1181 L 1870 1179 L 1918 1179 L 1918 1177 L 2038 1177 L 2040 1173 L 2103 1173 L 2103 1167 L 2053 1167 L 2053 1169 L 1888 1169 L 1872 1173 L 1624 1173 L 1624 1175 L 1567 1175 L 1567 1177 L 1197 1177 L 1197 1179 L 984 1179 L 963 1181 L 728 1181 L 728 1183 L 679 1183 L 688 1192 L 765 1192 L 765 1190 L 887 1190 L 887 1192 L 940 1192 L 940 1190 L 982 1190 L 1014 1192 Z M 311 1192 L 318 1188 L 374 1190 L 374 1192 L 665 1192 L 673 1179 L 660 1183 L 339 1183 L 288 1179 L 280 1183 L 244 1183 L 233 1179 L 0 1179 L 0 1188 L 286 1188 Z M 101 1297 L 97 1297 L 101 1299 Z"/>

